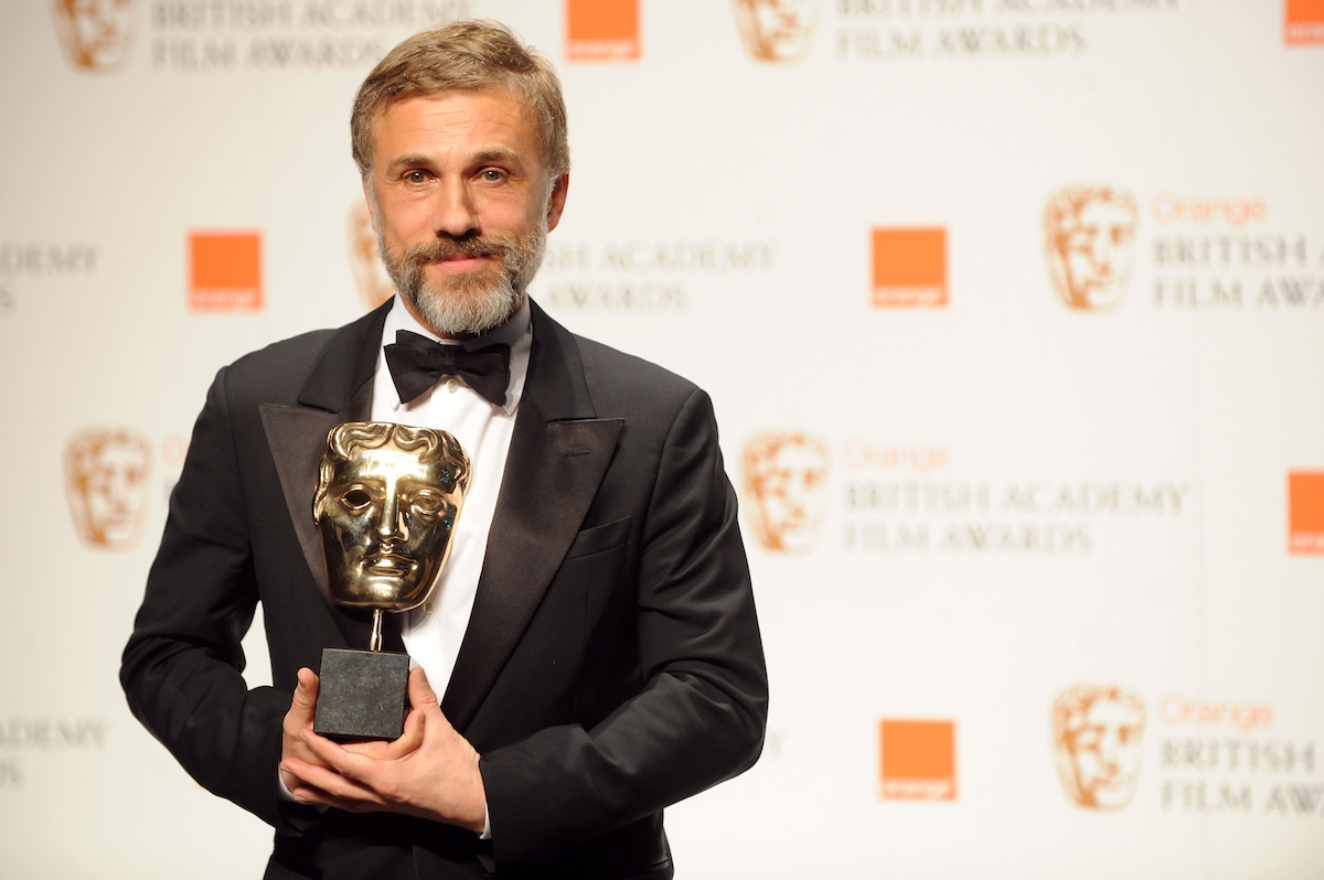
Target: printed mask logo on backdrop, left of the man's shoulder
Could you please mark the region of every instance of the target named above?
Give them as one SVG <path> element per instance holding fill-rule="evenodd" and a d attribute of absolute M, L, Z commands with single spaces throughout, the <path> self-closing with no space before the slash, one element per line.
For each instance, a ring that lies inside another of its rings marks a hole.
<path fill-rule="evenodd" d="M 147 509 L 151 446 L 123 427 L 93 427 L 65 447 L 65 491 L 78 536 L 107 550 L 138 540 Z"/>

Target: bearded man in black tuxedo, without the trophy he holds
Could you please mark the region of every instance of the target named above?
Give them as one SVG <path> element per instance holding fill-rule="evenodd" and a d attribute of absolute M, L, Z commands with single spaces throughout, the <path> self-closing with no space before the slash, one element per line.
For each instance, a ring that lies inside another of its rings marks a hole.
<path fill-rule="evenodd" d="M 277 828 L 267 877 L 669 877 L 662 809 L 748 768 L 767 711 L 707 396 L 526 298 L 569 160 L 555 74 L 508 32 L 406 40 L 351 130 L 400 296 L 217 376 L 124 650 L 130 705 Z M 508 348 L 490 398 L 463 372 L 418 389 L 457 344 Z M 327 431 L 361 419 L 445 429 L 473 472 L 440 598 L 388 615 L 421 667 L 405 733 L 340 746 L 311 730 L 311 670 L 368 621 L 327 598 L 311 511 Z M 274 687 L 249 691 L 257 602 Z"/>

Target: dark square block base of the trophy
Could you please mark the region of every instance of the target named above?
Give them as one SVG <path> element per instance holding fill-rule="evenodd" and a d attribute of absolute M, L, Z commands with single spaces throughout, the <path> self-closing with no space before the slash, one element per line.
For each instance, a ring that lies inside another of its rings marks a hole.
<path fill-rule="evenodd" d="M 408 685 L 408 654 L 322 648 L 312 729 L 336 742 L 399 740 Z"/>

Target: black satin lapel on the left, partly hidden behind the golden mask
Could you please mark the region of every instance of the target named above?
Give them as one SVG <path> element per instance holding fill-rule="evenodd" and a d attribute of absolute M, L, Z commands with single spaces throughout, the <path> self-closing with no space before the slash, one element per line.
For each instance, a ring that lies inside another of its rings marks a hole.
<path fill-rule="evenodd" d="M 331 601 L 322 537 L 312 521 L 312 496 L 316 494 L 327 433 L 342 422 L 364 421 L 372 413 L 372 376 L 381 324 L 389 307 L 388 302 L 331 337 L 299 393 L 298 406 L 262 404 L 258 408 L 299 549 L 322 601 L 350 647 L 368 646 L 372 618 L 368 613 L 342 609 Z M 387 615 L 384 640 L 388 650 L 404 651 L 395 615 Z"/>

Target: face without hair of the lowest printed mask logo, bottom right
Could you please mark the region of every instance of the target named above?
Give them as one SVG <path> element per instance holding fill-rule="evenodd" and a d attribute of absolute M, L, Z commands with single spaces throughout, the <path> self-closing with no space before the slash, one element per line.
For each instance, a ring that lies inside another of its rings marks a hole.
<path fill-rule="evenodd" d="M 1131 801 L 1140 775 L 1143 733 L 1143 721 L 1127 704 L 1099 700 L 1090 707 L 1067 741 L 1084 806 L 1115 810 Z"/>

